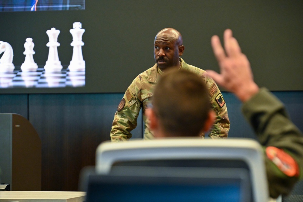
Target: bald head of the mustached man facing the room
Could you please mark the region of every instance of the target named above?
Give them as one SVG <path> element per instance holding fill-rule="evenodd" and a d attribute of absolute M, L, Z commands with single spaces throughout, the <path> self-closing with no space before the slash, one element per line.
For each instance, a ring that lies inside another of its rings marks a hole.
<path fill-rule="evenodd" d="M 154 58 L 162 71 L 167 68 L 179 68 L 183 51 L 182 35 L 176 29 L 165 28 L 157 33 L 154 41 Z"/>

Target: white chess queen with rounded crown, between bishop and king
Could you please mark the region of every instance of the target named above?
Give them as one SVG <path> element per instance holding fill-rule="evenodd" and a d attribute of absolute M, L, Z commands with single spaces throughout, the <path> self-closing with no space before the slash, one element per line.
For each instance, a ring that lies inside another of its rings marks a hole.
<path fill-rule="evenodd" d="M 44 66 L 45 72 L 61 71 L 62 65 L 58 56 L 58 46 L 60 46 L 58 36 L 60 30 L 53 27 L 52 29 L 47 30 L 46 34 L 49 36 L 49 43 L 46 44 L 46 46 L 49 47 L 49 56 Z"/>

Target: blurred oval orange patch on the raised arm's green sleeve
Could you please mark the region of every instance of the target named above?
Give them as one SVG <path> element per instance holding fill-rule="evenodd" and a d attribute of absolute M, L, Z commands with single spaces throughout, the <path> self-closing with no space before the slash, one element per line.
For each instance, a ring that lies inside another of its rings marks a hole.
<path fill-rule="evenodd" d="M 297 162 L 284 150 L 270 146 L 266 148 L 266 155 L 285 175 L 299 175 Z"/>

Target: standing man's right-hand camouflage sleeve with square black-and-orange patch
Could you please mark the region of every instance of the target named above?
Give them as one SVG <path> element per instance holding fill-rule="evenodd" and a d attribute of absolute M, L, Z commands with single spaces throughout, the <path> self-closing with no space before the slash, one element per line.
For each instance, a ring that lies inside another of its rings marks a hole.
<path fill-rule="evenodd" d="M 209 89 L 210 102 L 216 112 L 215 122 L 208 136 L 212 139 L 227 138 L 230 122 L 227 107 L 220 89 L 213 79 L 208 78 L 206 85 Z"/>

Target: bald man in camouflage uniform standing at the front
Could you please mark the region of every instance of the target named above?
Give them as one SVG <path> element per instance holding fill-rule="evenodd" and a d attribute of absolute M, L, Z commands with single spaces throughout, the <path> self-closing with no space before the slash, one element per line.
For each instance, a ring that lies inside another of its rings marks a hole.
<path fill-rule="evenodd" d="M 180 58 L 184 51 L 181 34 L 172 28 L 161 30 L 154 41 L 154 58 L 156 64 L 137 76 L 126 90 L 114 116 L 110 132 L 113 142 L 128 140 L 132 137 L 131 130 L 136 128 L 137 117 L 143 109 L 144 139 L 153 139 L 145 109 L 151 103 L 153 89 L 161 75 L 174 69 L 189 70 L 198 74 L 209 89 L 212 108 L 216 112 L 214 125 L 209 132 L 210 138 L 227 138 L 230 122 L 224 98 L 211 78 L 205 77 L 205 71 L 187 63 Z M 169 95 L 167 95 L 169 96 Z M 178 110 L 178 109 L 176 109 Z M 204 137 L 204 133 L 201 133 Z"/>

